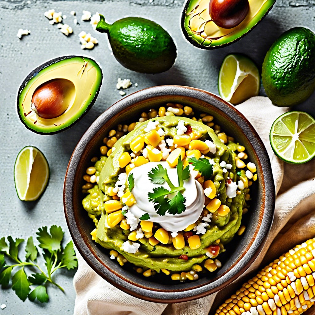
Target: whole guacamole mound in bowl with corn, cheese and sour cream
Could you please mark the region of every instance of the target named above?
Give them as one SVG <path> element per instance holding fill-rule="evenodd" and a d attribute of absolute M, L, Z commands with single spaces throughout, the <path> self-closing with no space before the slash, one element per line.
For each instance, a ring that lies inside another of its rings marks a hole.
<path fill-rule="evenodd" d="M 136 124 L 97 162 L 98 185 L 83 200 L 97 226 L 92 238 L 117 253 L 111 258 L 123 255 L 144 270 L 215 270 L 216 256 L 241 225 L 248 193 L 246 165 L 235 153 L 241 146 L 222 138 L 187 117 Z M 150 193 L 163 189 L 170 193 L 150 200 Z M 177 204 L 171 206 L 174 196 Z M 165 205 L 172 211 L 163 213 Z"/>

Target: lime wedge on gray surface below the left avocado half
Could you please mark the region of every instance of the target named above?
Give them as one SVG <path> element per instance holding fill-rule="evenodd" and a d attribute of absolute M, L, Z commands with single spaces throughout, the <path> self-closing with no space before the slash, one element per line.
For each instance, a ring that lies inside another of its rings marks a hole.
<path fill-rule="evenodd" d="M 14 164 L 15 189 L 20 200 L 34 201 L 45 190 L 49 165 L 43 153 L 34 146 L 24 147 Z"/>

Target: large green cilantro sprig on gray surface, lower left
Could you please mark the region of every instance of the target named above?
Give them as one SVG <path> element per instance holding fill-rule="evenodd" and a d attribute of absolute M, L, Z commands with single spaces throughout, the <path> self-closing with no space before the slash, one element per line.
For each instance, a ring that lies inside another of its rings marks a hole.
<path fill-rule="evenodd" d="M 27 239 L 24 260 L 19 257 L 19 246 L 25 241 L 23 238 L 16 238 L 15 241 L 11 236 L 7 237 L 7 241 L 4 237 L 0 238 L 0 284 L 2 287 L 7 287 L 12 276 L 12 289 L 22 301 L 28 297 L 30 301 L 37 299 L 39 302 L 48 302 L 47 284 L 51 283 L 64 292 L 64 289 L 54 282 L 53 273 L 60 268 L 68 270 L 76 268 L 77 258 L 72 241 L 65 247 L 62 246 L 64 232 L 60 226 L 51 226 L 49 232 L 47 226 L 44 226 L 39 228 L 36 234 L 38 246 L 43 249 L 42 255 L 46 268 L 42 268 L 37 261 L 41 253 L 34 245 L 32 237 Z M 6 259 L 13 264 L 8 264 Z M 35 270 L 38 272 L 27 277 L 25 272 L 27 267 L 32 272 Z M 18 271 L 12 275 L 13 269 Z"/>

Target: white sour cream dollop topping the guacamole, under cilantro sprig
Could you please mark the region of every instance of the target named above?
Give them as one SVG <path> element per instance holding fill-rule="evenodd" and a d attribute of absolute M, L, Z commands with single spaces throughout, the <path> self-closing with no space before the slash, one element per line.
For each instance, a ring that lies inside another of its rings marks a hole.
<path fill-rule="evenodd" d="M 137 218 L 140 219 L 142 215 L 148 213 L 150 219 L 155 223 L 159 223 L 165 230 L 169 232 L 178 232 L 184 230 L 188 225 L 196 222 L 201 215 L 204 205 L 204 192 L 200 183 L 195 180 L 195 171 L 191 169 L 190 178 L 184 180 L 185 191 L 182 192 L 186 198 L 185 206 L 186 210 L 181 214 L 172 215 L 166 212 L 165 215 L 158 215 L 154 209 L 154 203 L 148 200 L 148 192 L 153 192 L 154 187 L 163 186 L 170 190 L 168 184 L 153 184 L 148 177 L 148 173 L 152 168 L 161 164 L 167 169 L 170 181 L 174 186 L 178 186 L 178 176 L 176 168 L 171 168 L 167 162 L 149 162 L 138 166 L 130 171 L 129 174 L 133 174 L 135 180 L 135 186 L 132 190 L 132 194 L 135 197 L 136 203 L 133 204 L 129 211 Z M 173 196 L 169 196 L 170 198 Z"/>

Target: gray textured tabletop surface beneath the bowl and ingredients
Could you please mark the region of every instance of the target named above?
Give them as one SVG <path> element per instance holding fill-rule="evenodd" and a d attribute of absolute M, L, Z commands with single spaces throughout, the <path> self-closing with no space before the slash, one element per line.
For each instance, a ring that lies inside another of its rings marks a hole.
<path fill-rule="evenodd" d="M 315 2 L 313 0 L 278 0 L 268 16 L 250 34 L 239 42 L 223 49 L 206 51 L 194 48 L 183 38 L 180 30 L 180 16 L 184 0 L 115 0 L 115 1 L 42 1 L 42 0 L 0 0 L 0 134 L 1 134 L 1 228 L 0 236 L 27 238 L 35 236 L 38 227 L 52 224 L 61 225 L 70 238 L 63 213 L 62 189 L 66 167 L 71 153 L 88 126 L 108 106 L 121 98 L 117 89 L 117 77 L 130 78 L 138 87 L 126 90 L 130 94 L 136 90 L 161 84 L 180 84 L 205 89 L 217 94 L 217 74 L 224 56 L 230 52 L 248 54 L 258 66 L 272 42 L 285 30 L 294 26 L 315 29 Z M 73 28 L 69 37 L 63 35 L 56 25 L 49 25 L 44 11 L 55 9 L 67 15 L 64 20 Z M 82 10 L 93 14 L 97 11 L 110 22 L 123 16 L 141 16 L 152 19 L 166 28 L 178 47 L 175 66 L 168 72 L 146 75 L 131 72 L 117 63 L 108 49 L 107 36 L 94 32 L 89 22 L 73 24 L 70 11 L 77 12 L 80 20 Z M 31 30 L 31 35 L 19 40 L 19 28 Z M 91 51 L 82 51 L 78 34 L 91 32 L 99 40 L 99 45 Z M 57 135 L 37 135 L 26 129 L 16 113 L 16 93 L 20 83 L 39 64 L 46 60 L 67 55 L 85 54 L 100 62 L 104 79 L 100 95 L 90 112 L 73 128 Z M 299 106 L 315 115 L 314 95 L 307 104 Z M 13 166 L 15 157 L 26 145 L 40 148 L 47 157 L 51 176 L 49 186 L 37 202 L 21 202 L 15 192 Z M 47 304 L 22 302 L 11 289 L 0 290 L 0 304 L 6 304 L 2 314 L 71 314 L 75 292 L 72 286 L 74 273 L 61 272 L 57 282 L 66 290 L 49 287 L 50 301 Z"/>

